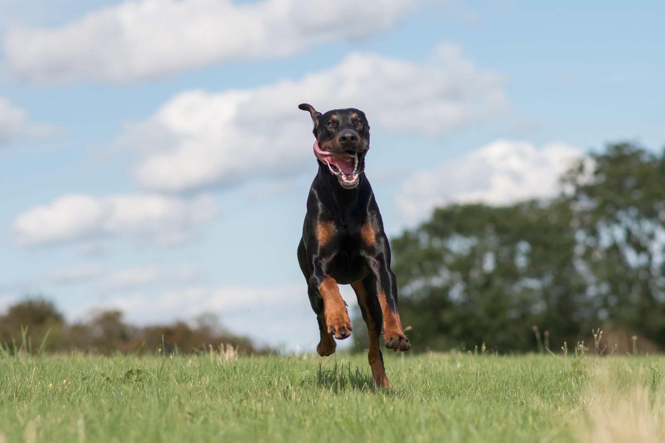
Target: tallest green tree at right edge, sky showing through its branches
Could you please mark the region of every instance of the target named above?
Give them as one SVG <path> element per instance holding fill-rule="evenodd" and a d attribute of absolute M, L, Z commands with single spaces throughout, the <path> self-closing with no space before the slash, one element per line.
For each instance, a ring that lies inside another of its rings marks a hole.
<path fill-rule="evenodd" d="M 590 296 L 612 327 L 665 345 L 665 155 L 610 145 L 565 177 Z"/>

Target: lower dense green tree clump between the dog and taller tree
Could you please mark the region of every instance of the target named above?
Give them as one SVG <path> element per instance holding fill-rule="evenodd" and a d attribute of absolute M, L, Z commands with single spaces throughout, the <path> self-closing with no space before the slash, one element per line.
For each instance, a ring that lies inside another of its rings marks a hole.
<path fill-rule="evenodd" d="M 575 321 L 584 279 L 573 260 L 565 200 L 509 207 L 452 205 L 393 241 L 400 313 L 432 349 L 486 343 L 533 349 L 531 325 L 562 343 Z"/>

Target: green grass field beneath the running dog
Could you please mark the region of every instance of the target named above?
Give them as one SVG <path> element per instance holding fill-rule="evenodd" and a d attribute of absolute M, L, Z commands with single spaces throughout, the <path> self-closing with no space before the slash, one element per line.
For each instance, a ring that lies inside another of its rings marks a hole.
<path fill-rule="evenodd" d="M 663 357 L 0 357 L 5 442 L 662 441 Z"/>

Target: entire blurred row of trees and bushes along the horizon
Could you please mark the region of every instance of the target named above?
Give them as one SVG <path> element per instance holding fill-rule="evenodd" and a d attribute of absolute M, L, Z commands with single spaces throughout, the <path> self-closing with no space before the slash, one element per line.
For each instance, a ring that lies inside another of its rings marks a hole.
<path fill-rule="evenodd" d="M 620 351 L 665 348 L 665 153 L 634 143 L 608 145 L 580 159 L 556 198 L 505 207 L 448 205 L 393 238 L 402 324 L 413 351 L 537 349 L 539 331 L 559 349 L 591 340 L 601 327 Z M 354 350 L 366 347 L 356 315 Z M 227 333 L 214 316 L 194 323 L 138 327 L 120 311 L 68 325 L 41 298 L 0 317 L 0 343 L 29 328 L 33 347 L 49 331 L 47 351 L 184 353 L 220 343 L 266 352 Z M 547 343 L 546 343 L 547 344 Z"/>

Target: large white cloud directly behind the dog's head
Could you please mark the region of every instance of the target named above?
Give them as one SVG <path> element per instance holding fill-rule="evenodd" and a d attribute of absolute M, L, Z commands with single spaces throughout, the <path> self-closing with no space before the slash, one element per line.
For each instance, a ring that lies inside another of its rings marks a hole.
<path fill-rule="evenodd" d="M 501 113 L 502 84 L 450 44 L 442 44 L 430 64 L 350 54 L 297 81 L 217 94 L 183 92 L 128 129 L 118 144 L 140 149 L 136 178 L 152 189 L 283 178 L 314 161 L 311 121 L 297 109 L 301 102 L 322 112 L 360 108 L 380 130 L 438 135 Z"/>

